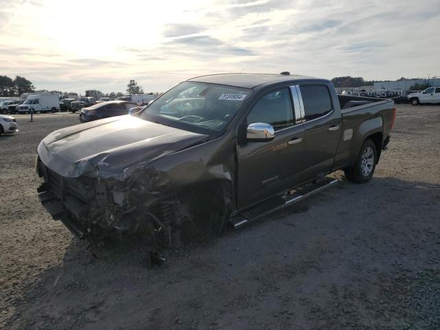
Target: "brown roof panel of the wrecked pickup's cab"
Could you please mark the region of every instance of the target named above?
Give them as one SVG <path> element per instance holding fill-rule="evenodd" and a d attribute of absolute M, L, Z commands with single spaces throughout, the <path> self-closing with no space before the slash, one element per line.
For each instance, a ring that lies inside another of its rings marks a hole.
<path fill-rule="evenodd" d="M 210 74 L 188 79 L 199 83 L 212 83 L 254 89 L 255 87 L 267 83 L 281 83 L 290 80 L 314 79 L 322 80 L 309 76 L 287 75 L 287 74 Z"/>

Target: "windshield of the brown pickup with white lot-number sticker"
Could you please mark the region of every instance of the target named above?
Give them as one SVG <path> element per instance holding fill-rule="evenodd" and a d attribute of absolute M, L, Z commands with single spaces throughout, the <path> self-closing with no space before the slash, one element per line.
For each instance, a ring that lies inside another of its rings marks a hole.
<path fill-rule="evenodd" d="M 140 118 L 188 131 L 219 132 L 251 93 L 250 89 L 186 81 L 149 104 Z"/>

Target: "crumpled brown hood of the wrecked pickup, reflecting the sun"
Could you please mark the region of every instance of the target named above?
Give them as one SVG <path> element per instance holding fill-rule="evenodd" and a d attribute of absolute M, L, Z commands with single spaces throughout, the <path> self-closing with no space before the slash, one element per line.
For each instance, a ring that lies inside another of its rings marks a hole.
<path fill-rule="evenodd" d="M 39 144 L 41 161 L 63 177 L 125 179 L 133 167 L 195 144 L 208 137 L 122 115 L 70 126 L 47 135 Z"/>

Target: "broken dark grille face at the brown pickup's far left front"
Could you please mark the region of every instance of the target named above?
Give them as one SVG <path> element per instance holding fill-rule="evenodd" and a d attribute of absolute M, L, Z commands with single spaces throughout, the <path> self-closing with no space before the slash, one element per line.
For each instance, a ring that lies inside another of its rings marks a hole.
<path fill-rule="evenodd" d="M 54 220 L 61 220 L 76 236 L 84 238 L 87 235 L 84 218 L 94 198 L 93 179 L 85 185 L 80 179 L 62 177 L 39 159 L 37 168 L 44 178 L 44 183 L 37 190 L 43 207 Z"/>

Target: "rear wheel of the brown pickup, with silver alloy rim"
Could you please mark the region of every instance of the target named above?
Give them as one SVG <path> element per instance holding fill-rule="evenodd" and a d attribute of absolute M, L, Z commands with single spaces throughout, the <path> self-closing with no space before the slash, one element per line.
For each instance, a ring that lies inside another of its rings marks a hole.
<path fill-rule="evenodd" d="M 371 180 L 377 164 L 377 149 L 374 142 L 366 139 L 360 153 L 356 159 L 355 165 L 345 170 L 345 177 L 350 181 L 363 184 Z"/>

